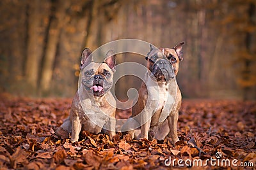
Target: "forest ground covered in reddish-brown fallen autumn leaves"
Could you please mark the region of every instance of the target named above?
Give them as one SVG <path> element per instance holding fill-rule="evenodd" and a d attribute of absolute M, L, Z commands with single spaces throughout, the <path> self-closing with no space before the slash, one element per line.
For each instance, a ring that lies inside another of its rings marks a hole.
<path fill-rule="evenodd" d="M 68 116 L 71 101 L 2 96 L 0 169 L 168 169 L 182 167 L 177 164 L 179 159 L 183 168 L 256 167 L 255 101 L 184 100 L 178 124 L 180 141 L 175 146 L 168 139 L 131 141 L 121 133 L 112 140 L 85 131 L 77 143 L 58 139 L 54 131 Z M 116 116 L 125 118 L 129 113 L 117 111 Z M 216 152 L 221 154 L 219 160 L 237 159 L 237 167 L 218 165 L 218 160 L 215 166 L 206 162 L 216 159 Z M 202 160 L 202 167 L 191 166 L 196 159 Z"/>

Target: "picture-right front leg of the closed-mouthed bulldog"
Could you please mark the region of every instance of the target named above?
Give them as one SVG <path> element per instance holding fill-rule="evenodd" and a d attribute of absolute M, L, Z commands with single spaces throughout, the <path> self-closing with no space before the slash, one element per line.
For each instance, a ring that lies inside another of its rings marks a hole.
<path fill-rule="evenodd" d="M 170 136 L 172 138 L 172 145 L 175 145 L 177 141 L 179 141 L 177 134 L 177 122 L 179 118 L 179 110 L 175 111 L 174 115 L 170 115 L 167 120 L 170 128 Z"/>

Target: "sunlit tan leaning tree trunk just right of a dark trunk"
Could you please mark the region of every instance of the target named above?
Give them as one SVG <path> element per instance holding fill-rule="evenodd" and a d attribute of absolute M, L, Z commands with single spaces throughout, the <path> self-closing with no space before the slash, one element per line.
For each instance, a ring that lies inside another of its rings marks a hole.
<path fill-rule="evenodd" d="M 61 27 L 65 23 L 64 18 L 69 1 L 54 1 L 52 6 L 56 9 L 49 23 L 49 32 L 45 48 L 45 56 L 42 64 L 42 76 L 40 79 L 40 92 L 47 92 L 50 88 L 52 79 L 52 70 L 58 41 L 60 39 Z"/>

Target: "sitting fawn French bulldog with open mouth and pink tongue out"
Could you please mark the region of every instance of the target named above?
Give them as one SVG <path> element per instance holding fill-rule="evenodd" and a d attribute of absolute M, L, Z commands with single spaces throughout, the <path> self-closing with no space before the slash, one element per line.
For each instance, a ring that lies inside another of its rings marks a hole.
<path fill-rule="evenodd" d="M 112 50 L 103 63 L 93 62 L 92 52 L 85 48 L 81 57 L 81 82 L 72 101 L 69 117 L 56 131 L 61 138 L 75 142 L 81 131 L 98 134 L 108 129 L 109 137 L 115 136 L 116 102 L 110 89 L 115 73 L 116 55 Z"/>

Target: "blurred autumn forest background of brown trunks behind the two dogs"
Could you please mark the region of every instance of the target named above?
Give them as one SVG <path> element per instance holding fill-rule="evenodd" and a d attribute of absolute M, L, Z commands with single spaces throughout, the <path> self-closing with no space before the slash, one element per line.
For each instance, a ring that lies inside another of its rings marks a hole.
<path fill-rule="evenodd" d="M 186 41 L 177 77 L 184 97 L 255 99 L 255 5 L 253 0 L 1 0 L 0 92 L 72 97 L 84 47 L 134 38 L 159 47 Z M 138 62 L 145 64 L 142 58 Z M 118 57 L 118 63 L 125 60 Z M 120 79 L 117 96 L 125 98 L 132 83 L 139 84 L 136 78 Z"/>

